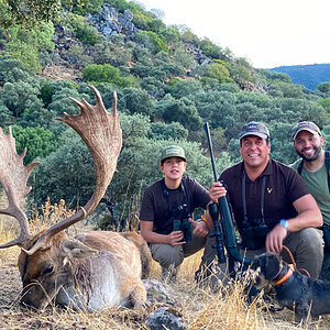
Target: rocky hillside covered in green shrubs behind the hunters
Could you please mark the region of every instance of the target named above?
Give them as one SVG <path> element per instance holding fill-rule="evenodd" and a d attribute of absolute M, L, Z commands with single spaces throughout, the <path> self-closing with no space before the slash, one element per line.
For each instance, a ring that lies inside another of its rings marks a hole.
<path fill-rule="evenodd" d="M 267 124 L 272 156 L 283 163 L 297 157 L 290 130 L 301 119 L 319 124 L 329 143 L 327 91 L 256 69 L 188 26 L 167 26 L 135 2 L 84 2 L 59 9 L 46 22 L 36 11 L 31 30 L 21 29 L 19 23 L 26 23 L 21 15 L 0 20 L 0 125 L 12 125 L 19 152 L 28 147 L 25 164 L 42 161 L 34 170 L 34 204 L 52 195 L 52 201 L 74 206 L 92 193 L 88 153 L 54 121 L 63 112 L 78 113 L 68 98 L 95 102 L 89 84 L 107 109 L 117 91 L 123 132 L 119 172 L 103 200 L 111 215 L 97 223 L 103 229 L 118 227 L 119 219 L 121 226 L 135 219 L 141 193 L 160 178 L 157 157 L 165 144 L 179 143 L 189 158 L 187 175 L 209 187 L 205 122 L 211 128 L 219 173 L 240 160 L 238 134 L 252 120 Z M 10 9 L 0 6 L 2 18 L 14 14 Z M 73 179 L 77 173 L 84 175 Z"/>

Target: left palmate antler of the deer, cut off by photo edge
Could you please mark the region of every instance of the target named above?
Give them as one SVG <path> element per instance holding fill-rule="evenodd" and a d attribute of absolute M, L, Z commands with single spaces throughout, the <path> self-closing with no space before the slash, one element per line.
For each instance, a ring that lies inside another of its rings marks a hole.
<path fill-rule="evenodd" d="M 23 158 L 26 148 L 21 155 L 16 153 L 15 140 L 11 128 L 8 128 L 8 134 L 4 134 L 0 128 L 0 182 L 8 198 L 8 207 L 1 209 L 0 213 L 16 218 L 20 224 L 20 235 L 4 244 L 0 249 L 13 245 L 23 245 L 31 237 L 26 215 L 20 206 L 20 201 L 25 197 L 31 187 L 26 186 L 28 178 L 32 169 L 38 165 L 38 162 L 23 165 Z"/>

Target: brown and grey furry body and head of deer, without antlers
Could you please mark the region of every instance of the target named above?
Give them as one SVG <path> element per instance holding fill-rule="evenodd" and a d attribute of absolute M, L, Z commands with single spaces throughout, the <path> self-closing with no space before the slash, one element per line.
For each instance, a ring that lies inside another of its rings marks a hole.
<path fill-rule="evenodd" d="M 33 242 L 31 242 L 33 244 Z M 92 231 L 75 240 L 59 232 L 50 248 L 19 256 L 21 302 L 44 309 L 51 301 L 80 310 L 133 305 L 141 309 L 151 253 L 135 232 Z"/>

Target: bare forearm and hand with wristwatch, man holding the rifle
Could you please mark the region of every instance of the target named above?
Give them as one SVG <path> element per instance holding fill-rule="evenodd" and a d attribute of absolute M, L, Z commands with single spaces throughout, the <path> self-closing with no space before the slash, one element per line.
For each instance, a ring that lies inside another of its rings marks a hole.
<path fill-rule="evenodd" d="M 322 215 L 317 202 L 310 194 L 305 195 L 293 202 L 298 215 L 295 218 L 286 219 L 288 230 L 283 226 L 276 224 L 266 238 L 267 252 L 279 253 L 283 249 L 283 240 L 287 235 L 287 231 L 299 231 L 311 227 L 317 228 L 323 224 Z"/>

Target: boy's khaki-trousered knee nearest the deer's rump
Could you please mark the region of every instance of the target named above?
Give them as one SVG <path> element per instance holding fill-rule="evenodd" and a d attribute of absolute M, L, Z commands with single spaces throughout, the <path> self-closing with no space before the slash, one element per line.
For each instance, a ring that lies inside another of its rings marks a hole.
<path fill-rule="evenodd" d="M 150 249 L 153 258 L 158 262 L 162 267 L 167 268 L 170 265 L 178 266 L 184 261 L 184 251 L 180 245 L 151 244 Z"/>

